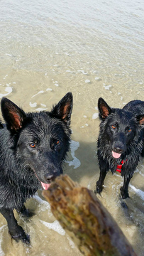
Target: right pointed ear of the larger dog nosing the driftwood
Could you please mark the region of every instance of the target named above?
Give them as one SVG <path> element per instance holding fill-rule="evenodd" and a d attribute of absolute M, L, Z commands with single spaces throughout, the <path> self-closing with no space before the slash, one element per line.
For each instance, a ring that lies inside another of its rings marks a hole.
<path fill-rule="evenodd" d="M 70 125 L 72 107 L 73 107 L 72 92 L 67 92 L 67 94 L 64 97 L 62 97 L 62 100 L 60 100 L 60 102 L 58 102 L 57 105 L 55 105 L 52 108 L 52 111 L 50 112 L 50 114 L 52 114 L 53 117 L 61 119 L 62 121 Z"/>

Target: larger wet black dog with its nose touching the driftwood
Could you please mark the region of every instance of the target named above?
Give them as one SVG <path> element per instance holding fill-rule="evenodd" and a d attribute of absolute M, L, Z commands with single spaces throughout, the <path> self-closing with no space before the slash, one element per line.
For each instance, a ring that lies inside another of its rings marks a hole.
<path fill-rule="evenodd" d="M 13 209 L 28 214 L 23 203 L 62 174 L 62 161 L 70 147 L 72 93 L 52 111 L 26 114 L 10 100 L 1 100 L 6 124 L 0 130 L 0 212 L 15 240 L 29 243 L 17 224 Z"/>

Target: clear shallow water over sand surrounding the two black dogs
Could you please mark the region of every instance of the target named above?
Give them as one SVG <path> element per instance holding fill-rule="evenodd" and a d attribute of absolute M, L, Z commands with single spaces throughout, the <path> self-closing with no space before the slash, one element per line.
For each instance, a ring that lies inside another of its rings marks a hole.
<path fill-rule="evenodd" d="M 90 189 L 99 177 L 96 139 L 97 100 L 111 107 L 143 100 L 144 4 L 137 1 L 1 1 L 0 97 L 23 110 L 50 110 L 66 92 L 74 95 L 72 144 L 64 171 Z M 131 180 L 121 207 L 119 174 L 106 176 L 100 200 L 143 256 L 144 161 Z M 31 235 L 31 246 L 11 240 L 0 215 L 0 255 L 81 255 L 50 212 L 41 191 L 26 203 L 35 212 L 18 223 Z"/>

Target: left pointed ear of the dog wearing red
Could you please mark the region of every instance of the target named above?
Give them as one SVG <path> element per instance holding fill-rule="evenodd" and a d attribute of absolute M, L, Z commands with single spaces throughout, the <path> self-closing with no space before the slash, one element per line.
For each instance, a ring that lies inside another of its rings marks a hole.
<path fill-rule="evenodd" d="M 111 114 L 111 107 L 107 105 L 103 98 L 99 98 L 98 100 L 98 108 L 99 108 L 99 117 L 101 119 L 105 119 Z"/>

